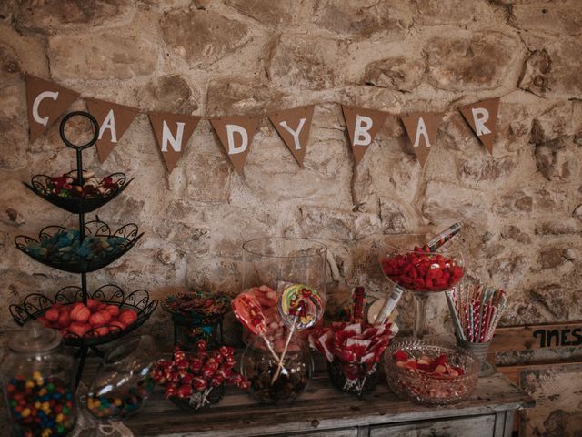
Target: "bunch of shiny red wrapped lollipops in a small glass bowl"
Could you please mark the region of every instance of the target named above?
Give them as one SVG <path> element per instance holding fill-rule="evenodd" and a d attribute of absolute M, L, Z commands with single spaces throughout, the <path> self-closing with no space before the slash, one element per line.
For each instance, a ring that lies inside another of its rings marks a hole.
<path fill-rule="evenodd" d="M 248 389 L 248 381 L 233 370 L 236 361 L 232 348 L 206 351 L 206 341 L 199 341 L 197 346 L 195 354 L 186 355 L 176 347 L 171 361 L 156 362 L 152 378 L 166 388 L 166 399 L 198 410 L 212 403 L 212 392 L 222 390 L 225 384 Z"/>

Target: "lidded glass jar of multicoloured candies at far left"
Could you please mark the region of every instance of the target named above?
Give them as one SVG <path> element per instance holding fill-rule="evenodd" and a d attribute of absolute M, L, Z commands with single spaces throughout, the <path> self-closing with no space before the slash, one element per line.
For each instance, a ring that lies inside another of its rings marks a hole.
<path fill-rule="evenodd" d="M 35 320 L 10 340 L 0 374 L 12 436 L 55 437 L 74 428 L 75 359 L 61 340 Z"/>

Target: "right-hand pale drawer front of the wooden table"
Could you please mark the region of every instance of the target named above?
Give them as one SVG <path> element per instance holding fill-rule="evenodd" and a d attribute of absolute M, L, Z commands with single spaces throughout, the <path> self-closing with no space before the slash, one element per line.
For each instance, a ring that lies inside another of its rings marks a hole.
<path fill-rule="evenodd" d="M 493 414 L 370 427 L 370 437 L 488 437 L 494 432 Z"/>

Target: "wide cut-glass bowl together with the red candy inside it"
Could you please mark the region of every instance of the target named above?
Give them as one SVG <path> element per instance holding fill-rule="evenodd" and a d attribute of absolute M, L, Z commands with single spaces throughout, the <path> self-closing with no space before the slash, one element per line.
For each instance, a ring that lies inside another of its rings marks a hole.
<path fill-rule="evenodd" d="M 437 341 L 400 340 L 384 356 L 396 396 L 426 405 L 466 400 L 477 387 L 479 363 L 467 351 Z"/>

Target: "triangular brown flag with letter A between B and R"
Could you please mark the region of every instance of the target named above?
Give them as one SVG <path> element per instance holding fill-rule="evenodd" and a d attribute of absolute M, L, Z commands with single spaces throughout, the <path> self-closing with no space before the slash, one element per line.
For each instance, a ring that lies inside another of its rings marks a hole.
<path fill-rule="evenodd" d="M 438 127 L 444 115 L 442 112 L 415 112 L 400 116 L 421 167 L 425 167 L 430 147 L 435 145 Z"/>

